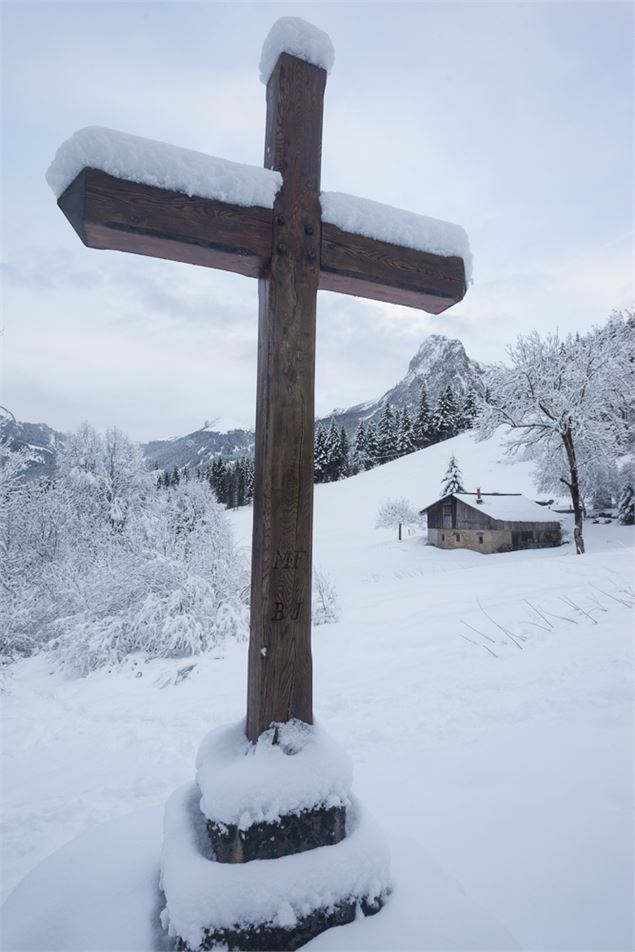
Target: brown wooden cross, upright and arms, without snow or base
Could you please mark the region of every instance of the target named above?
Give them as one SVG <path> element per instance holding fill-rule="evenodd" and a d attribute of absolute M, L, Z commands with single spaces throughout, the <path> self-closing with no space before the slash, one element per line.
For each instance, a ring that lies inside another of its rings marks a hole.
<path fill-rule="evenodd" d="M 241 207 L 85 168 L 58 204 L 85 245 L 258 278 L 258 384 L 247 736 L 313 722 L 311 573 L 318 289 L 438 314 L 466 290 L 460 257 L 321 221 L 326 71 L 283 52 L 267 84 L 273 209 Z"/>

